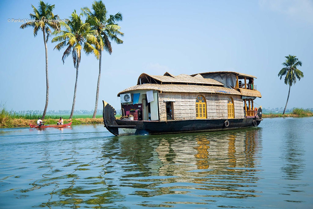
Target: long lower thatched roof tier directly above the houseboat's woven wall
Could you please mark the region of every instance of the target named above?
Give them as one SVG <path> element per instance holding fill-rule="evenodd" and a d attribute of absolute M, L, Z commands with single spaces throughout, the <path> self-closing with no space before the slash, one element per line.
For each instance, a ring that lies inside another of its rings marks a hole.
<path fill-rule="evenodd" d="M 241 95 L 239 91 L 221 87 L 221 86 L 199 86 L 199 85 L 184 85 L 184 84 L 141 84 L 131 86 L 120 93 L 128 93 L 130 91 L 138 90 L 155 90 L 160 92 L 184 92 L 184 93 L 218 93 L 218 94 L 232 94 Z"/>

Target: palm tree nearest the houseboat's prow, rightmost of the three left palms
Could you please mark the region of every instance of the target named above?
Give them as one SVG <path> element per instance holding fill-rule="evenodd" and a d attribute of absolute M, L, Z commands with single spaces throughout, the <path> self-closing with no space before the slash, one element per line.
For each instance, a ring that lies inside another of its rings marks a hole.
<path fill-rule="evenodd" d="M 112 47 L 110 40 L 115 41 L 117 44 L 122 44 L 123 41 L 119 39 L 117 36 L 124 34 L 120 31 L 121 26 L 119 26 L 116 22 L 122 21 L 123 17 L 121 13 L 116 13 L 115 15 L 108 15 L 104 3 L 100 1 L 94 1 L 92 4 L 92 12 L 89 8 L 83 8 L 83 12 L 90 19 L 91 27 L 95 30 L 96 37 L 99 43 L 100 58 L 99 58 L 99 76 L 97 83 L 97 91 L 96 91 L 96 102 L 95 102 L 95 110 L 92 118 L 96 117 L 97 108 L 98 108 L 98 99 L 99 99 L 99 87 L 100 87 L 100 78 L 101 78 L 101 57 L 102 51 L 105 50 L 109 54 L 112 53 Z"/>

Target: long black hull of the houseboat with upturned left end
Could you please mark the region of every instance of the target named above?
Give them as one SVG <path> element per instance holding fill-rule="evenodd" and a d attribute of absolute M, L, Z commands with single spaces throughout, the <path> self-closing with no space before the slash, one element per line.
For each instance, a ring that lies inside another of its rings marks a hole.
<path fill-rule="evenodd" d="M 224 131 L 258 126 L 262 119 L 196 119 L 196 120 L 169 120 L 169 121 L 131 121 L 115 118 L 113 107 L 104 102 L 103 120 L 105 127 L 115 136 L 192 133 L 208 131 Z M 254 122 L 254 120 L 256 122 Z M 225 121 L 229 123 L 225 125 Z M 228 126 L 227 126 L 228 125 Z"/>

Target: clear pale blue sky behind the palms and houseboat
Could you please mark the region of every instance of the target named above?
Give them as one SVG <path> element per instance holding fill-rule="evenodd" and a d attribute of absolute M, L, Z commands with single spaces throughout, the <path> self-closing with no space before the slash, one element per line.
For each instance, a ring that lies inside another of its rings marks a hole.
<path fill-rule="evenodd" d="M 56 1 L 54 14 L 68 18 L 92 1 Z M 313 1 L 104 1 L 109 14 L 121 12 L 123 44 L 102 57 L 99 106 L 102 100 L 120 108 L 117 93 L 136 85 L 145 72 L 195 74 L 237 71 L 257 76 L 263 107 L 285 107 L 288 87 L 277 74 L 285 56 L 296 55 L 304 78 L 291 87 L 288 107 L 312 107 Z M 29 18 L 38 1 L 0 3 L 0 102 L 8 110 L 43 110 L 45 105 L 45 51 L 42 32 L 20 29 L 8 19 Z M 48 110 L 70 110 L 75 68 L 71 57 L 48 42 Z M 99 62 L 82 55 L 76 110 L 93 110 Z"/>

